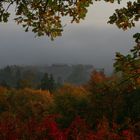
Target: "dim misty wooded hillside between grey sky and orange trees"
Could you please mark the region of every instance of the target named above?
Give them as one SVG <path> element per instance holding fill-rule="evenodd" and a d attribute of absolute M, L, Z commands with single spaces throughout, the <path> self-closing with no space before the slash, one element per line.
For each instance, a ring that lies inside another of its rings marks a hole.
<path fill-rule="evenodd" d="M 68 65 L 68 64 L 52 64 L 42 66 L 18 66 L 11 65 L 0 69 L 0 83 L 6 83 L 12 87 L 17 86 L 19 79 L 24 79 L 31 83 L 32 87 L 37 87 L 45 73 L 53 75 L 56 83 L 64 84 L 84 84 L 90 74 L 96 68 L 93 65 Z M 104 69 L 96 69 L 104 72 Z"/>

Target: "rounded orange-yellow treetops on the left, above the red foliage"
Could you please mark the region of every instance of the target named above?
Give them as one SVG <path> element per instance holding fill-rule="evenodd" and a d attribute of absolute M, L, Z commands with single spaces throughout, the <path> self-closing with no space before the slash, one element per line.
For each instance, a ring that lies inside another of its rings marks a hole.
<path fill-rule="evenodd" d="M 41 118 L 49 114 L 53 103 L 53 97 L 48 91 L 0 88 L 0 114 L 9 112 L 21 119 L 30 116 Z"/>

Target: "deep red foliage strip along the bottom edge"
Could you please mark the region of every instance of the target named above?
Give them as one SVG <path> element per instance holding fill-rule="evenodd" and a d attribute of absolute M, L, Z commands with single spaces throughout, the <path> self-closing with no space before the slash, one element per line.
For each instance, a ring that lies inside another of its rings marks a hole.
<path fill-rule="evenodd" d="M 42 121 L 30 119 L 21 122 L 16 117 L 5 117 L 0 120 L 0 139 L 2 140 L 136 140 L 131 130 L 116 133 L 119 126 L 109 127 L 103 120 L 93 131 L 84 119 L 79 116 L 66 129 L 60 129 L 54 115 L 49 115 Z"/>

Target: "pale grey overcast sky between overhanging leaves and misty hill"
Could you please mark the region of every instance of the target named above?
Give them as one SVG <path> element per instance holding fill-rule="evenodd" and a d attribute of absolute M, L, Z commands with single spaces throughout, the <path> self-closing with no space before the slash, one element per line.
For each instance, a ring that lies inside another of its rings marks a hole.
<path fill-rule="evenodd" d="M 35 38 L 33 33 L 25 33 L 13 21 L 0 23 L 0 67 L 14 64 L 92 64 L 111 72 L 115 52 L 127 53 L 134 45 L 132 34 L 140 31 L 139 24 L 125 32 L 107 24 L 114 9 L 121 6 L 95 2 L 80 24 L 64 21 L 67 26 L 63 36 L 53 42 L 47 37 Z"/>

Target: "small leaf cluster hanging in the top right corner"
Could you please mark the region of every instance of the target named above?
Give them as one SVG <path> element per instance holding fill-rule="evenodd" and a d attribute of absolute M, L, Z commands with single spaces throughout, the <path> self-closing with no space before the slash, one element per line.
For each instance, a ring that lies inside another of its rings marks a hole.
<path fill-rule="evenodd" d="M 118 28 L 126 30 L 134 27 L 135 22 L 140 19 L 140 0 L 127 2 L 127 7 L 116 9 L 115 13 L 110 17 L 108 23 L 116 24 Z"/>

